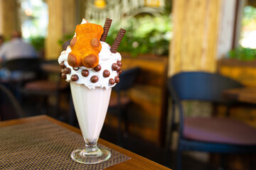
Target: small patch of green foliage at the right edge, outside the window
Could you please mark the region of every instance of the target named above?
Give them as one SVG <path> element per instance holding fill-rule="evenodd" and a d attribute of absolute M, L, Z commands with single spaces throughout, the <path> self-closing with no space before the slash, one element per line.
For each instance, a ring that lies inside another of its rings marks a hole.
<path fill-rule="evenodd" d="M 243 61 L 251 61 L 256 59 L 256 49 L 247 47 L 237 47 L 228 52 L 228 57 L 236 58 Z"/>

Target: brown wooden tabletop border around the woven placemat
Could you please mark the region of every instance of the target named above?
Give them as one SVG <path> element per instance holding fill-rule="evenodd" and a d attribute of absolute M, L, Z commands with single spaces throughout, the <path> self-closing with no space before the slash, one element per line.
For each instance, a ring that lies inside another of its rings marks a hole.
<path fill-rule="evenodd" d="M 81 132 L 78 128 L 74 128 L 73 126 L 70 126 L 66 123 L 62 123 L 58 120 L 50 118 L 47 115 L 38 115 L 38 116 L 29 117 L 29 118 L 3 121 L 3 122 L 0 122 L 0 128 L 10 126 L 10 125 L 18 125 L 18 124 L 31 123 L 31 122 L 43 121 L 43 120 L 49 120 L 50 122 L 55 123 L 56 125 L 60 125 L 63 128 L 67 128 L 68 130 L 71 130 L 81 135 Z M 122 147 L 118 147 L 117 145 L 107 142 L 106 140 L 99 139 L 98 142 L 102 145 L 105 145 L 106 147 L 110 147 L 111 149 L 114 149 L 122 154 L 125 154 L 128 157 L 131 157 L 131 159 L 125 162 L 116 164 L 114 166 L 111 166 L 107 169 L 136 169 L 136 170 L 137 169 L 169 169 L 165 166 L 157 164 L 156 162 L 152 162 L 149 159 L 141 157 L 138 154 L 129 152 L 127 149 L 123 149 Z"/>

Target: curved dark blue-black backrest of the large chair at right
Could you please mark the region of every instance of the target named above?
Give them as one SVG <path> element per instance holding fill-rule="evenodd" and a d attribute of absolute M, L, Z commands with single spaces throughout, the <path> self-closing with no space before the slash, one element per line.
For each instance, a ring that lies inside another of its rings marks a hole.
<path fill-rule="evenodd" d="M 174 100 L 200 100 L 228 102 L 221 92 L 225 89 L 240 88 L 238 81 L 220 74 L 208 72 L 181 72 L 168 80 L 168 89 Z"/>

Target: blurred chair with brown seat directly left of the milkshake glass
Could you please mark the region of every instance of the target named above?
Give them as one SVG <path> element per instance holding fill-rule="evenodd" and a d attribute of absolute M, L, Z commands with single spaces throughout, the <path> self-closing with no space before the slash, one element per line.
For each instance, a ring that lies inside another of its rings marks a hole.
<path fill-rule="evenodd" d="M 36 81 L 29 81 L 28 83 L 24 84 L 20 91 L 21 94 L 26 96 L 36 96 L 43 98 L 44 100 L 41 101 L 41 112 L 43 112 L 43 109 L 47 108 L 46 106 L 48 106 L 48 98 L 53 96 L 55 98 L 53 117 L 57 118 L 60 108 L 60 93 L 68 90 L 69 84 L 68 82 L 61 79 L 60 69 L 58 70 L 60 67 L 57 60 L 44 62 L 41 64 L 41 66 L 43 64 L 48 64 L 57 69 L 53 69 L 53 71 L 42 69 L 42 78 Z"/>

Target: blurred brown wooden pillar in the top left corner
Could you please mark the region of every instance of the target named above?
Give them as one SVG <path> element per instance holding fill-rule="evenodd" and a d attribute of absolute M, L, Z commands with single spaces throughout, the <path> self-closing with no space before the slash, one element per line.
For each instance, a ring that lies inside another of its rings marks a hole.
<path fill-rule="evenodd" d="M 0 0 L 0 34 L 9 39 L 13 30 L 20 30 L 16 0 Z"/>

